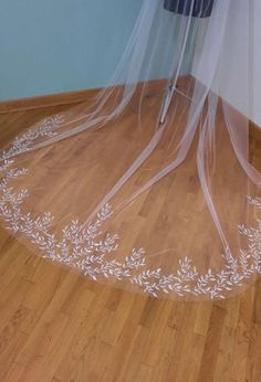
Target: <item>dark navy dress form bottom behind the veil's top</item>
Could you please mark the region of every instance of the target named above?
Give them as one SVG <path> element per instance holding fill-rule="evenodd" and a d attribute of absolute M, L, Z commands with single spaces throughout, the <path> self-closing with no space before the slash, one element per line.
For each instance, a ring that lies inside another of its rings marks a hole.
<path fill-rule="evenodd" d="M 170 12 L 195 18 L 210 17 L 216 0 L 164 0 L 164 8 Z M 194 4 L 192 4 L 194 3 Z"/>

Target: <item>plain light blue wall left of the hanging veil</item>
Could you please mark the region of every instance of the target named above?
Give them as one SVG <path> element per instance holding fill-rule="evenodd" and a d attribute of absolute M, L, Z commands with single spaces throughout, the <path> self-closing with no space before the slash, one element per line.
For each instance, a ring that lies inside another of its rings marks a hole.
<path fill-rule="evenodd" d="M 103 86 L 140 6 L 142 0 L 0 0 L 0 99 Z"/>

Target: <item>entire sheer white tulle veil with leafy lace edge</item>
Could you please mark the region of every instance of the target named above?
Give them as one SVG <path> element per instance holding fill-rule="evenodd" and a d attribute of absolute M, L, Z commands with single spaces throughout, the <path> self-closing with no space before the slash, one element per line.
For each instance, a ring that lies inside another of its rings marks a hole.
<path fill-rule="evenodd" d="M 251 1 L 216 0 L 209 18 L 195 1 L 182 15 L 144 0 L 98 96 L 0 155 L 4 227 L 93 280 L 159 298 L 226 298 L 261 273 Z"/>

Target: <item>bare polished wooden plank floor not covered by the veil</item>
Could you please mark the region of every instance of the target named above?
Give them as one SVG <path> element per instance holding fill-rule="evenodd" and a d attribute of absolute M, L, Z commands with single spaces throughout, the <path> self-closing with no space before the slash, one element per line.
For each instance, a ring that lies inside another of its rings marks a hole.
<path fill-rule="evenodd" d="M 1 115 L 1 145 L 63 108 Z M 0 250 L 0 381 L 261 381 L 261 283 L 221 303 L 160 301 L 94 284 L 3 230 Z"/>

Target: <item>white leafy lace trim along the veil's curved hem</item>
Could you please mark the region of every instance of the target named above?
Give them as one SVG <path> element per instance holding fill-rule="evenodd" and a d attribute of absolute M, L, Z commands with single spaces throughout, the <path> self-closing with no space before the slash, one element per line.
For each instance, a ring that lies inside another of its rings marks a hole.
<path fill-rule="evenodd" d="M 222 270 L 213 273 L 212 269 L 208 269 L 207 273 L 200 274 L 191 259 L 185 257 L 179 261 L 176 274 L 165 274 L 161 268 L 146 268 L 144 248 L 133 248 L 122 262 L 107 258 L 117 251 L 119 240 L 116 234 L 111 233 L 103 237 L 102 225 L 113 214 L 108 204 L 101 209 L 88 225 L 77 220 L 72 221 L 62 230 L 60 238 L 51 231 L 54 216 L 50 212 L 36 217 L 30 212 L 24 213 L 21 208 L 24 199 L 29 197 L 28 190 L 21 189 L 14 192 L 9 183 L 25 176 L 28 169 L 12 168 L 14 160 L 9 158 L 27 151 L 38 137 L 51 136 L 52 129 L 61 121 L 60 117 L 55 118 L 58 119 L 45 120 L 38 130 L 30 130 L 17 138 L 11 148 L 0 156 L 0 172 L 3 174 L 0 180 L 0 216 L 7 229 L 13 233 L 24 234 L 35 244 L 43 252 L 43 257 L 70 265 L 94 280 L 98 277 L 127 280 L 154 297 L 165 293 L 178 296 L 205 295 L 212 299 L 222 299 L 226 297 L 226 291 L 241 286 L 242 282 L 254 273 L 261 273 L 261 221 L 258 221 L 255 229 L 239 225 L 240 234 L 248 238 L 248 248 L 240 250 L 239 259 L 227 252 L 222 256 L 225 262 Z M 259 198 L 248 197 L 248 201 L 261 209 Z"/>

